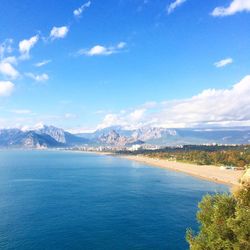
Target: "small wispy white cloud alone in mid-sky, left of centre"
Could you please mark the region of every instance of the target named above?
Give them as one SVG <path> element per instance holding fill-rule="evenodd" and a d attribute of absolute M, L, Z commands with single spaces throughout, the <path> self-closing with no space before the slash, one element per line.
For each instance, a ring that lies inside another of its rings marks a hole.
<path fill-rule="evenodd" d="M 87 56 L 108 56 L 120 52 L 126 47 L 125 42 L 120 42 L 115 46 L 104 47 L 102 45 L 96 45 L 90 49 L 81 49 L 78 54 Z"/>

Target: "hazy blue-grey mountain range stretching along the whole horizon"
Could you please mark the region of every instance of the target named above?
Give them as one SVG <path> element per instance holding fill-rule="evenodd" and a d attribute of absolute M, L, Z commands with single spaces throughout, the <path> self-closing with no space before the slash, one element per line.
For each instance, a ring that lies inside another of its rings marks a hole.
<path fill-rule="evenodd" d="M 54 126 L 23 131 L 0 129 L 0 147 L 53 148 L 72 146 L 114 146 L 133 144 L 176 146 L 187 144 L 249 144 L 250 127 L 212 129 L 166 129 L 142 127 L 126 130 L 122 127 L 108 127 L 93 133 L 72 134 Z"/>

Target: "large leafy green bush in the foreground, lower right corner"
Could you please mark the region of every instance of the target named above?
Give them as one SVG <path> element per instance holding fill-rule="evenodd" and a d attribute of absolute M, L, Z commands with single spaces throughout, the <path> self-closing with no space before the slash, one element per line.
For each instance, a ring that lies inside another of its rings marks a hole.
<path fill-rule="evenodd" d="M 199 233 L 186 234 L 191 250 L 250 250 L 250 185 L 231 195 L 206 195 L 197 219 Z"/>

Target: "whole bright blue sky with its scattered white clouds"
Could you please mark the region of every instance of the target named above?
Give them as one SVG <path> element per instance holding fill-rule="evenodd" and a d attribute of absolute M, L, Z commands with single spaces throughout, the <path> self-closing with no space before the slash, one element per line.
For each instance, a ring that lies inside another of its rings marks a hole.
<path fill-rule="evenodd" d="M 0 128 L 250 126 L 250 0 L 1 0 Z"/>

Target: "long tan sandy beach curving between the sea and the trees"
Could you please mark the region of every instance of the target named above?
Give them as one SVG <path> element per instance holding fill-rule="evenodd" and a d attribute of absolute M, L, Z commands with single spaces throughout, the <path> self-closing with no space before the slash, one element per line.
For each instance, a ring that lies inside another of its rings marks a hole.
<path fill-rule="evenodd" d="M 242 177 L 244 171 L 222 170 L 218 166 L 199 166 L 195 164 L 188 164 L 182 162 L 174 162 L 162 159 L 154 159 L 146 156 L 122 156 L 125 159 L 138 161 L 150 166 L 167 168 L 169 170 L 183 172 L 198 178 L 224 183 L 230 186 L 239 185 L 239 179 Z"/>

